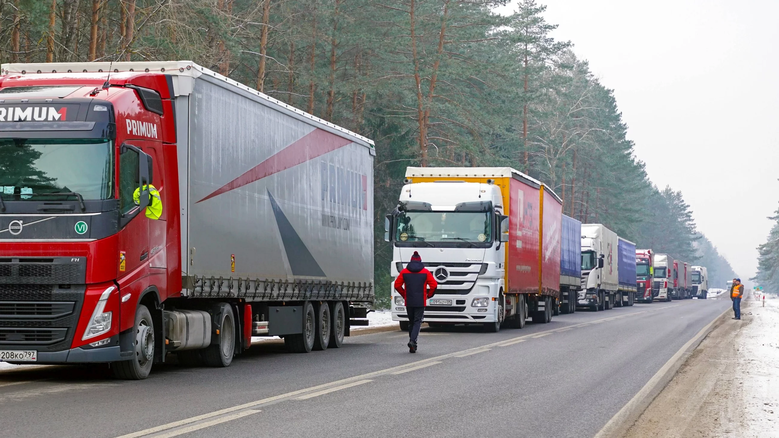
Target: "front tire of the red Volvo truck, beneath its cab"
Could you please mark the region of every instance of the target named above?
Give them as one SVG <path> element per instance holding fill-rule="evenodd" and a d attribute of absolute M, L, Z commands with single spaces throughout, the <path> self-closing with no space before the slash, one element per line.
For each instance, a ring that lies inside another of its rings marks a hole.
<path fill-rule="evenodd" d="M 136 309 L 135 357 L 130 360 L 113 362 L 111 370 L 117 379 L 143 380 L 149 376 L 154 362 L 154 322 L 146 306 L 140 304 Z"/>

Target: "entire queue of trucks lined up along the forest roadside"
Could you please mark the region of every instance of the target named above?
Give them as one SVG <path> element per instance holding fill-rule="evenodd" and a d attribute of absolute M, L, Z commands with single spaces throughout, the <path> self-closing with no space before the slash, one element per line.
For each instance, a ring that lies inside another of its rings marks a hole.
<path fill-rule="evenodd" d="M 229 366 L 252 337 L 338 348 L 368 325 L 372 140 L 193 62 L 3 64 L 0 360 Z M 562 214 L 512 168 L 407 168 L 385 217 L 430 326 L 706 298 L 705 267 Z M 392 317 L 408 325 L 403 298 Z"/>

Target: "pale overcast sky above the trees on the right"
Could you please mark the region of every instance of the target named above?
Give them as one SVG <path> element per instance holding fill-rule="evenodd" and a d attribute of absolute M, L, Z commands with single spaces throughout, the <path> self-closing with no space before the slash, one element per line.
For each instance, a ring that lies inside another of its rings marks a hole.
<path fill-rule="evenodd" d="M 779 2 L 537 0 L 742 280 L 779 207 Z M 509 5 L 509 9 L 511 6 Z"/>

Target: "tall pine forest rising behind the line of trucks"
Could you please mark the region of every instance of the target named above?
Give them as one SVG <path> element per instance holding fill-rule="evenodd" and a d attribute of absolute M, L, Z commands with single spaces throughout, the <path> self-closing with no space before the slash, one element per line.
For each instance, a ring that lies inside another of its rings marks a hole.
<path fill-rule="evenodd" d="M 505 3 L 0 0 L 0 60 L 192 60 L 372 138 L 379 295 L 382 218 L 409 165 L 516 168 L 554 187 L 565 214 L 731 276 L 682 193 L 650 182 L 612 90 L 550 37 L 545 7 L 493 12 Z"/>

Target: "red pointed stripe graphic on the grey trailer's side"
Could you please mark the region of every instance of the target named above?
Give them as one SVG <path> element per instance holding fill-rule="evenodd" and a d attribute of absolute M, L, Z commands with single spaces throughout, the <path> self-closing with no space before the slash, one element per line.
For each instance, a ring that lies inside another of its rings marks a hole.
<path fill-rule="evenodd" d="M 221 186 L 209 196 L 206 196 L 197 202 L 200 203 L 204 200 L 213 198 L 213 196 L 221 195 L 232 189 L 238 189 L 238 187 L 247 185 L 250 182 L 258 181 L 266 176 L 305 163 L 306 161 L 327 154 L 333 150 L 337 150 L 350 143 L 352 143 L 351 140 L 344 139 L 344 137 L 337 136 L 324 129 L 314 129 L 312 132 L 308 132 L 308 134 L 303 136 L 300 140 L 278 151 L 276 154 L 273 154 L 273 156 L 266 161 L 245 171 L 243 175 Z"/>

